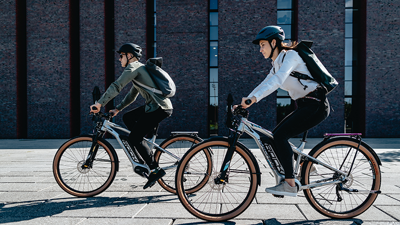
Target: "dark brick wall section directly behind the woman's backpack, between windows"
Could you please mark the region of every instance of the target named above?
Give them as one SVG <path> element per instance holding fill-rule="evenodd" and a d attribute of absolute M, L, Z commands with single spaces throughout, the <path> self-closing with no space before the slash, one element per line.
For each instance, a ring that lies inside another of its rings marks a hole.
<path fill-rule="evenodd" d="M 333 110 L 308 136 L 344 132 L 344 1 L 298 2 L 298 40 L 312 40 L 311 49 L 339 82 L 328 94 Z"/>

